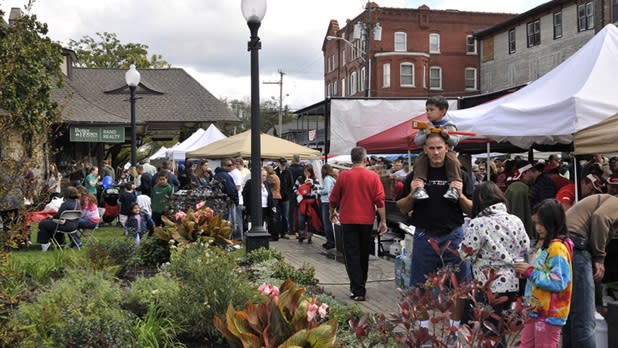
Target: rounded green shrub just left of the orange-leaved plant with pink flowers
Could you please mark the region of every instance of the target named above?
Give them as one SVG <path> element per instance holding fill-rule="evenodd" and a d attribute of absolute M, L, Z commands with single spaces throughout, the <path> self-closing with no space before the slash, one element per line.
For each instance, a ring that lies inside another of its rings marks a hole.
<path fill-rule="evenodd" d="M 170 319 L 192 339 L 219 339 L 214 316 L 225 313 L 230 303 L 239 308 L 257 296 L 234 259 L 204 243 L 172 247 L 170 264 L 164 270 L 178 280 L 180 289 L 177 297 L 161 301 L 169 301 Z"/>

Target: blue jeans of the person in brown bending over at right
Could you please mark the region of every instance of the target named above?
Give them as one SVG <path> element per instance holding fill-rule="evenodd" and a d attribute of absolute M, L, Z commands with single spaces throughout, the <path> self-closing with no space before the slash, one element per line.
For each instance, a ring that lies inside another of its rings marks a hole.
<path fill-rule="evenodd" d="M 594 280 L 592 257 L 587 250 L 573 249 L 573 291 L 571 312 L 562 328 L 562 346 L 577 348 L 596 347 L 594 330 Z"/>

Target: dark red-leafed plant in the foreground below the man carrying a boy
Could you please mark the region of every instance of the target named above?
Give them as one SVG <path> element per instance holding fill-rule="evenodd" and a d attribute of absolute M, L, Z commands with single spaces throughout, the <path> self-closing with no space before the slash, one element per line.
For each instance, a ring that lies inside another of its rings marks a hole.
<path fill-rule="evenodd" d="M 429 243 L 441 259 L 445 252 L 459 256 L 448 243 L 442 248 L 433 239 Z M 464 249 L 464 252 L 472 256 L 477 251 Z M 425 344 L 445 348 L 496 347 L 499 344 L 504 347 L 518 346 L 529 308 L 518 298 L 512 309 L 498 315 L 493 306 L 508 301 L 508 298 L 497 296 L 491 290 L 491 284 L 498 277 L 495 271 L 486 270 L 488 281 L 485 284 L 474 280 L 459 282 L 455 276 L 457 271 L 458 265 L 447 264 L 428 274 L 422 287 L 399 289 L 401 300 L 398 313 L 351 319 L 350 327 L 360 345 L 374 347 L 394 342 L 403 347 Z M 468 320 L 455 324 L 453 320 L 461 319 L 464 304 L 468 306 Z"/>

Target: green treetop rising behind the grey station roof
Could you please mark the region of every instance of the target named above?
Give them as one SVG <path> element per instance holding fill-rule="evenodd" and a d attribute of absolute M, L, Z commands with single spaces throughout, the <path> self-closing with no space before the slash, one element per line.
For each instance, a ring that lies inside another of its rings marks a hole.
<path fill-rule="evenodd" d="M 140 43 L 122 44 L 114 33 L 96 33 L 100 41 L 86 35 L 79 41 L 71 39 L 69 48 L 77 53 L 79 65 L 86 68 L 128 69 L 135 64 L 139 68 L 169 68 L 160 54 L 148 57 L 148 46 Z"/>

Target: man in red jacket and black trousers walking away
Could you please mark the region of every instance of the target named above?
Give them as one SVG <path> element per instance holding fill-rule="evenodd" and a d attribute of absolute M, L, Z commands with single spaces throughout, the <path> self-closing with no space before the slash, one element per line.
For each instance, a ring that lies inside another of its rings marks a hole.
<path fill-rule="evenodd" d="M 367 150 L 355 147 L 350 153 L 352 168 L 342 171 L 330 194 L 330 220 L 341 222 L 345 268 L 350 279 L 350 297 L 365 301 L 371 231 L 380 215 L 378 232 L 386 233 L 384 187 L 377 173 L 365 168 Z"/>

